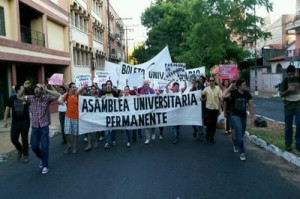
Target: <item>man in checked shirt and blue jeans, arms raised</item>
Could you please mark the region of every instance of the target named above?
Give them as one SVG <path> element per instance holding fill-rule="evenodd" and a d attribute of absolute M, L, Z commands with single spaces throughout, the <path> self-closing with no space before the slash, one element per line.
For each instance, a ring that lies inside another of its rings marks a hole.
<path fill-rule="evenodd" d="M 47 174 L 49 172 L 49 125 L 51 124 L 49 106 L 58 99 L 59 93 L 37 84 L 34 95 L 23 96 L 25 88 L 29 86 L 30 82 L 25 81 L 17 97 L 23 98 L 30 105 L 32 127 L 30 144 L 32 151 L 40 159 L 41 173 Z"/>

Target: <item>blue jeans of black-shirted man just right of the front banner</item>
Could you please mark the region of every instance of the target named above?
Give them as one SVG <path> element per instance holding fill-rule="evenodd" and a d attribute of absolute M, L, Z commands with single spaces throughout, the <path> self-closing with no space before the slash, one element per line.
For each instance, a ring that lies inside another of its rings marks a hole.
<path fill-rule="evenodd" d="M 247 118 L 231 115 L 230 120 L 236 134 L 236 138 L 233 140 L 233 145 L 239 148 L 239 153 L 245 153 L 243 137 L 246 130 Z"/>

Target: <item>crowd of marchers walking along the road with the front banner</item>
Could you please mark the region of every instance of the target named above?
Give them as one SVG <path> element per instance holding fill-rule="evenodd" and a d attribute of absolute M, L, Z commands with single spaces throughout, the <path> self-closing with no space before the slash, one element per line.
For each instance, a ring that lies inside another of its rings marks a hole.
<path fill-rule="evenodd" d="M 193 79 L 189 91 L 201 90 L 202 118 L 203 126 L 192 126 L 193 137 L 201 141 L 206 139 L 210 143 L 215 143 L 215 132 L 217 128 L 217 118 L 220 112 L 226 118 L 225 134 L 232 135 L 233 150 L 240 153 L 240 160 L 246 160 L 243 144 L 243 135 L 246 128 L 246 109 L 249 107 L 250 117 L 253 122 L 253 102 L 251 94 L 246 90 L 246 82 L 242 79 L 223 80 L 221 84 L 216 82 L 215 76 L 210 76 L 208 81 L 204 76 Z M 83 86 L 79 90 L 75 83 L 61 86 L 45 86 L 37 84 L 34 86 L 33 95 L 25 95 L 25 90 L 31 86 L 31 82 L 25 81 L 22 85 L 15 86 L 15 94 L 11 95 L 6 104 L 4 113 L 4 126 L 7 127 L 7 119 L 12 109 L 11 141 L 18 151 L 18 159 L 23 156 L 23 162 L 28 159 L 28 132 L 31 123 L 30 144 L 32 151 L 40 159 L 41 173 L 49 171 L 49 125 L 50 104 L 58 100 L 59 121 L 62 132 L 62 144 L 66 144 L 64 154 L 77 153 L 78 143 L 78 103 L 79 95 L 94 97 L 121 97 L 131 95 L 159 95 L 168 93 L 184 93 L 187 84 L 180 88 L 176 81 L 170 81 L 165 88 L 153 89 L 149 82 L 145 80 L 139 88 L 132 89 L 125 86 L 123 90 L 113 86 L 112 81 L 108 80 L 101 88 L 94 83 L 92 86 Z M 31 121 L 30 121 L 31 120 Z M 206 132 L 204 132 L 206 126 Z M 172 126 L 172 142 L 177 144 L 179 141 L 180 126 Z M 137 140 L 137 136 L 144 134 L 145 144 L 156 139 L 155 128 L 144 128 L 137 130 L 124 130 L 126 133 L 126 146 L 130 147 L 132 142 Z M 22 142 L 19 142 L 21 135 Z M 95 137 L 94 146 L 92 138 Z M 159 139 L 164 139 L 164 127 L 159 127 Z M 104 141 L 104 148 L 109 149 L 116 144 L 116 132 L 109 130 L 105 132 L 96 131 L 85 134 L 87 146 L 85 151 L 91 151 L 93 147 L 99 147 L 100 141 Z"/>

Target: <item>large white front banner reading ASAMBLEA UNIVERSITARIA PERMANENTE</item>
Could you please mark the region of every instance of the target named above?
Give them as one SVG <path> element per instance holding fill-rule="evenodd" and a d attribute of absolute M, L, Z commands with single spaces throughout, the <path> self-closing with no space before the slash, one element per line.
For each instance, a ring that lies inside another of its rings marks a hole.
<path fill-rule="evenodd" d="M 121 98 L 79 97 L 79 134 L 175 125 L 202 125 L 201 91 Z"/>

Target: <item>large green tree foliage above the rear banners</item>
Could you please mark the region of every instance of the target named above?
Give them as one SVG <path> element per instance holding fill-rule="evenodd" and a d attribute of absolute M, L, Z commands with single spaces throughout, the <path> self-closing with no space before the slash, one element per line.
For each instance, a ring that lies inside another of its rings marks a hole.
<path fill-rule="evenodd" d="M 269 0 L 157 0 L 142 14 L 148 39 L 133 57 L 145 62 L 168 45 L 173 62 L 187 68 L 241 62 L 249 55 L 243 42 L 271 36 L 259 28 L 258 7 L 272 10 Z"/>

